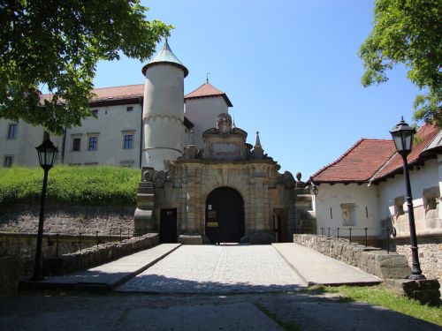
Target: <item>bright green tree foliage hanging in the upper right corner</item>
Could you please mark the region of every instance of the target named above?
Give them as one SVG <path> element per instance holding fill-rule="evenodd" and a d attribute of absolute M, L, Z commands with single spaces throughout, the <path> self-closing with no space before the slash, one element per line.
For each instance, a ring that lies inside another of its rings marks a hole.
<path fill-rule="evenodd" d="M 415 97 L 414 119 L 442 127 L 442 3 L 440 0 L 376 0 L 373 30 L 359 56 L 362 86 L 388 80 L 385 71 L 405 64 L 408 79 L 426 93 Z"/>

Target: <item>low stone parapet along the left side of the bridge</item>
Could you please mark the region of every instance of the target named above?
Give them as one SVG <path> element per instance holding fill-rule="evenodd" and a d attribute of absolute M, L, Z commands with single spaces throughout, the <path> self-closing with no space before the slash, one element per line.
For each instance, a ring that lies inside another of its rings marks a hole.
<path fill-rule="evenodd" d="M 43 275 L 63 275 L 74 270 L 99 266 L 156 244 L 159 244 L 158 234 L 149 233 L 141 237 L 94 245 L 56 259 L 43 260 Z"/>

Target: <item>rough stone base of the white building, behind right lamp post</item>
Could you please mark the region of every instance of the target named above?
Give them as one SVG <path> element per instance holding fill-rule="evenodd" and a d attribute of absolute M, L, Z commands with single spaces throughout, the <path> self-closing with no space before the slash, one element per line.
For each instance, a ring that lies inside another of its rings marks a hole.
<path fill-rule="evenodd" d="M 409 238 L 396 238 L 392 240 L 391 247 L 395 252 L 405 255 L 411 266 Z M 442 236 L 417 237 L 417 247 L 423 275 L 442 282 Z"/>

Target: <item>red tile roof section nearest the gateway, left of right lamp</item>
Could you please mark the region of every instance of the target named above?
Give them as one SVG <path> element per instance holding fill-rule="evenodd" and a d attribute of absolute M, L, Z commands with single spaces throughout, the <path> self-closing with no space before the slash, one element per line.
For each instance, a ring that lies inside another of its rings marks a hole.
<path fill-rule="evenodd" d="M 315 184 L 367 182 L 395 151 L 392 140 L 361 139 L 338 160 L 317 171 L 310 180 Z"/>

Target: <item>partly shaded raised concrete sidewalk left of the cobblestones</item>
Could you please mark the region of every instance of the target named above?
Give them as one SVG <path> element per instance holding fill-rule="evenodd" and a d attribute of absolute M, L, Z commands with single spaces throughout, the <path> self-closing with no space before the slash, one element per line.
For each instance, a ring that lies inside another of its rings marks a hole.
<path fill-rule="evenodd" d="M 159 244 L 98 267 L 67 275 L 44 278 L 40 282 L 20 282 L 20 289 L 97 289 L 110 290 L 127 282 L 175 251 L 181 244 Z"/>

